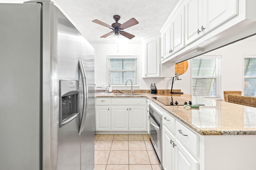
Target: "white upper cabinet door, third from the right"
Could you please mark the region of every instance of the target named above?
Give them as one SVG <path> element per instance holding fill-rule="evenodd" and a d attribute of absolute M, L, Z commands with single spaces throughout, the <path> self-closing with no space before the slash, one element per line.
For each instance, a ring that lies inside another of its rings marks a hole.
<path fill-rule="evenodd" d="M 172 18 L 172 50 L 176 53 L 184 47 L 184 6 L 174 14 Z"/>

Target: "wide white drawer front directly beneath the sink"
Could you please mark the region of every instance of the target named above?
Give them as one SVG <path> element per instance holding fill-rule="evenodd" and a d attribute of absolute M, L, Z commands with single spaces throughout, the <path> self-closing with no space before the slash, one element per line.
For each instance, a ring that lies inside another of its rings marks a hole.
<path fill-rule="evenodd" d="M 112 105 L 146 105 L 146 98 L 112 98 Z"/>

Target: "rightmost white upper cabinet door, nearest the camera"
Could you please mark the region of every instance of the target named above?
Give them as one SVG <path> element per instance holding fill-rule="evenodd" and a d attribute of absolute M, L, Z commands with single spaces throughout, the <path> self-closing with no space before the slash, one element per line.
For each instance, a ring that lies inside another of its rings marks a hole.
<path fill-rule="evenodd" d="M 238 0 L 203 0 L 204 32 L 238 15 Z"/>

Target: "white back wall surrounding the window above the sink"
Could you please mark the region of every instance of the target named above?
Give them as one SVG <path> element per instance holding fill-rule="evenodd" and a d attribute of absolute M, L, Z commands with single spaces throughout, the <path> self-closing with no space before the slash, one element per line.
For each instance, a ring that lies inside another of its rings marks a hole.
<path fill-rule="evenodd" d="M 95 83 L 105 83 L 107 80 L 107 55 L 138 55 L 138 82 L 140 86 L 134 89 L 150 89 L 155 83 L 158 89 L 170 89 L 170 78 L 142 78 L 144 74 L 144 56 L 142 43 L 92 43 L 95 49 Z M 130 90 L 130 86 L 114 86 L 113 90 Z"/>

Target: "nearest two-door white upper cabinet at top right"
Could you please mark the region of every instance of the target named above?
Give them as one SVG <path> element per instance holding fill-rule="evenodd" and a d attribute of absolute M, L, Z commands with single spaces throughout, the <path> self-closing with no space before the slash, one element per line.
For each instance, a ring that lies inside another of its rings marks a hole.
<path fill-rule="evenodd" d="M 186 45 L 238 15 L 238 0 L 187 0 Z"/>

